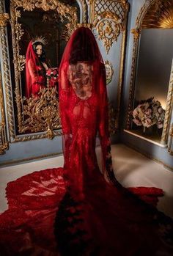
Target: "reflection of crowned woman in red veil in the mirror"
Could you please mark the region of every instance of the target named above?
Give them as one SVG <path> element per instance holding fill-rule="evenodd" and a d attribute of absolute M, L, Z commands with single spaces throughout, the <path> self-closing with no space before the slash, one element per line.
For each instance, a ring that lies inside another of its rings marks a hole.
<path fill-rule="evenodd" d="M 43 37 L 29 42 L 26 51 L 26 98 L 32 95 L 38 97 L 40 89 L 46 87 L 46 70 L 48 65 L 45 62 L 45 45 Z"/>

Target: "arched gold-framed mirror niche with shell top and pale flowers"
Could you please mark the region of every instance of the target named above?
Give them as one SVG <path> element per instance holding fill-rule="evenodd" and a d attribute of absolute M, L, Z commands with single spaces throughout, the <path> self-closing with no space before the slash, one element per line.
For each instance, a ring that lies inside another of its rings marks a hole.
<path fill-rule="evenodd" d="M 166 145 L 172 110 L 173 1 L 146 1 L 136 20 L 128 131 Z"/>

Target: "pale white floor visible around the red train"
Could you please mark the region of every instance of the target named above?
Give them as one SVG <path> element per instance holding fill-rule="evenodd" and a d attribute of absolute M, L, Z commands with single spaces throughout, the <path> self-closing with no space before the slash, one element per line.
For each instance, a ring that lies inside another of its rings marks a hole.
<path fill-rule="evenodd" d="M 112 145 L 111 151 L 114 172 L 119 182 L 125 187 L 156 186 L 163 189 L 165 194 L 158 202 L 158 209 L 173 218 L 173 172 L 164 168 L 162 164 L 142 156 L 125 145 Z M 100 148 L 97 148 L 97 157 L 99 161 Z M 5 188 L 9 181 L 41 169 L 62 166 L 63 156 L 57 156 L 1 168 L 0 213 L 7 209 Z"/>

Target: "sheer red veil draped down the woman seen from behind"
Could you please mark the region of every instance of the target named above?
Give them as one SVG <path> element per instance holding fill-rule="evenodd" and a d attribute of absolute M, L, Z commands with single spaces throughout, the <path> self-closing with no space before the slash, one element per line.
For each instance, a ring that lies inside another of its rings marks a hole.
<path fill-rule="evenodd" d="M 70 108 L 70 81 L 67 79 L 67 69 L 69 65 L 75 65 L 77 62 L 92 63 L 92 94 L 95 95 L 95 103 L 98 108 L 97 119 L 95 120 L 95 134 L 97 131 L 100 136 L 102 147 L 103 174 L 109 180 L 114 179 L 114 172 L 111 168 L 111 158 L 108 158 L 110 150 L 109 132 L 108 132 L 108 100 L 106 92 L 106 70 L 103 58 L 100 54 L 97 42 L 92 31 L 81 27 L 73 32 L 67 43 L 62 61 L 59 67 L 59 109 L 62 120 L 63 131 L 63 150 L 65 156 L 65 167 L 67 167 L 70 157 L 70 134 L 71 122 L 69 117 Z M 89 120 L 88 120 L 89 122 Z M 91 150 L 92 151 L 92 150 Z"/>

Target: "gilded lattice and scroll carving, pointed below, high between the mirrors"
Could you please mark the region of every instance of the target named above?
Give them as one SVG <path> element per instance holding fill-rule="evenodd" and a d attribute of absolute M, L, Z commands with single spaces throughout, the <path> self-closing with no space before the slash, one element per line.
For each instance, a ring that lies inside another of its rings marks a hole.
<path fill-rule="evenodd" d="M 103 40 L 107 54 L 125 30 L 128 8 L 127 1 L 90 1 L 90 23 L 97 30 L 99 40 Z"/>

